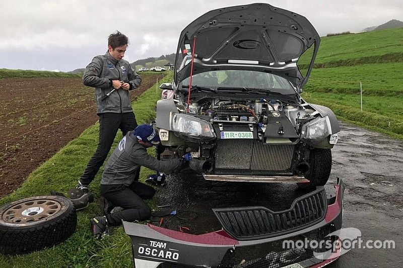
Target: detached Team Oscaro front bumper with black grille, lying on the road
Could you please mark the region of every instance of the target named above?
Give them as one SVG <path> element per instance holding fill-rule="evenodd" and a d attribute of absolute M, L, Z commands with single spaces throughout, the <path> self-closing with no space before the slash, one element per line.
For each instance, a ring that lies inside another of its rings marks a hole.
<path fill-rule="evenodd" d="M 131 238 L 135 267 L 322 267 L 341 252 L 334 234 L 342 228 L 345 184 L 339 179 L 334 188 L 333 198 L 326 200 L 318 187 L 281 212 L 215 209 L 223 229 L 200 235 L 125 221 L 123 228 Z M 305 239 L 329 246 L 288 248 L 285 241 Z"/>

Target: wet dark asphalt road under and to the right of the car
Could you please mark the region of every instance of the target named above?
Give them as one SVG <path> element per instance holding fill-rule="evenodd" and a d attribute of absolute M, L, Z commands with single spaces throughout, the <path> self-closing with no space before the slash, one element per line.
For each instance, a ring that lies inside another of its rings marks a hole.
<path fill-rule="evenodd" d="M 336 178 L 342 177 L 347 185 L 343 227 L 358 228 L 364 241 L 394 240 L 395 249 L 352 249 L 327 267 L 403 267 L 403 142 L 340 123 L 326 193 L 334 195 Z M 221 229 L 211 208 L 265 206 L 280 211 L 307 193 L 295 184 L 208 182 L 189 172 L 168 180 L 159 191 L 159 205 L 187 212 L 164 227 L 185 225 L 194 234 Z"/>

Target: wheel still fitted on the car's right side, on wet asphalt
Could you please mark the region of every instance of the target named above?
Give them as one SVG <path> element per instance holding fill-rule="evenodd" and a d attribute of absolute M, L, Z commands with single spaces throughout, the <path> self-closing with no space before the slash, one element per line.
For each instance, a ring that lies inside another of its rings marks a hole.
<path fill-rule="evenodd" d="M 331 171 L 331 150 L 313 149 L 309 154 L 310 169 L 305 174 L 309 183 L 297 183 L 301 189 L 312 189 L 316 186 L 323 186 L 329 180 Z"/>

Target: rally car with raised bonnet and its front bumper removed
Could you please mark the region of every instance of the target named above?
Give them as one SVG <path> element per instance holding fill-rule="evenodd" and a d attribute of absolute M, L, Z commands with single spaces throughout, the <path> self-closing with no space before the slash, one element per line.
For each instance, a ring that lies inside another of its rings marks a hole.
<path fill-rule="evenodd" d="M 157 103 L 161 159 L 190 152 L 206 180 L 324 185 L 339 124 L 300 96 L 319 42 L 305 17 L 267 4 L 197 18 L 181 32 L 174 82 L 161 87 L 174 93 Z M 311 47 L 303 76 L 297 61 Z"/>

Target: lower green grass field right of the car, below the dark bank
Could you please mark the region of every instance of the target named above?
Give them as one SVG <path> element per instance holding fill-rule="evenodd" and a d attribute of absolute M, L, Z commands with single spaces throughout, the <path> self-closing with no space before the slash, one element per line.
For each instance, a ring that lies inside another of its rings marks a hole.
<path fill-rule="evenodd" d="M 313 69 L 302 96 L 329 107 L 340 119 L 403 140 L 402 68 L 403 62 Z"/>

